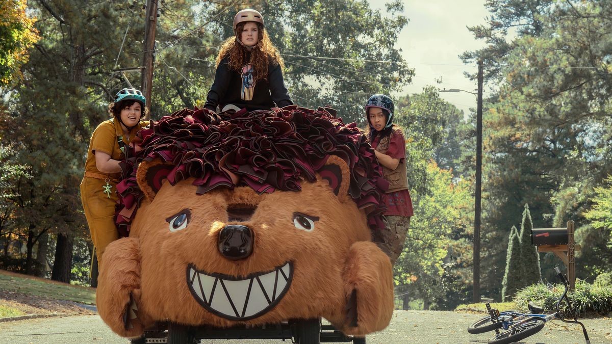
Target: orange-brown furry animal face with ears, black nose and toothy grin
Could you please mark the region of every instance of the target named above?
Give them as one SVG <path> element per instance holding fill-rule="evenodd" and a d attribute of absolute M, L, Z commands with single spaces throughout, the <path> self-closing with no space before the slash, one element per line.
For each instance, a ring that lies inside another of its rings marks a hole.
<path fill-rule="evenodd" d="M 342 309 L 348 249 L 368 241 L 370 231 L 364 211 L 346 196 L 346 164 L 332 158 L 300 192 L 263 195 L 249 187 L 197 195 L 193 179 L 144 185 L 147 166 L 140 166 L 149 200 L 130 237 L 141 243 L 143 297 L 155 300 L 160 315 L 185 323 Z"/>

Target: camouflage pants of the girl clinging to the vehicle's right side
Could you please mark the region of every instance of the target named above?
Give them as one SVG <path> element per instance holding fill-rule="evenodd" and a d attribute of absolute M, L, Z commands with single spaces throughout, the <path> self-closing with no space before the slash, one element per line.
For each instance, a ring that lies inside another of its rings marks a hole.
<path fill-rule="evenodd" d="M 409 216 L 387 216 L 387 226 L 384 230 L 376 231 L 373 241 L 389 256 L 391 264 L 395 264 L 404 249 L 406 232 L 410 225 Z"/>

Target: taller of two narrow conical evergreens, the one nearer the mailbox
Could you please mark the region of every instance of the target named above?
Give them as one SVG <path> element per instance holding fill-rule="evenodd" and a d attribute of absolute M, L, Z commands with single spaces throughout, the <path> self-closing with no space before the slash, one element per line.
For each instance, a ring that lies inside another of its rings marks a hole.
<path fill-rule="evenodd" d="M 529 212 L 529 204 L 525 204 L 523 211 L 523 222 L 521 223 L 521 233 L 519 236 L 521 242 L 521 288 L 542 282 L 542 272 L 540 272 L 540 253 L 537 248 L 531 244 L 531 230 L 533 223 L 531 222 L 531 213 Z"/>

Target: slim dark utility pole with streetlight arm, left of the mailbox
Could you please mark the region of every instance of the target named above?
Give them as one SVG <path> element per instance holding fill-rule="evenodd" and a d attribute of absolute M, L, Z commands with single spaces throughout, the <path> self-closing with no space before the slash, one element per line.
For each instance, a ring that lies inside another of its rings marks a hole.
<path fill-rule="evenodd" d="M 476 195 L 474 201 L 474 302 L 480 302 L 480 195 L 482 194 L 482 60 L 478 61 Z"/>

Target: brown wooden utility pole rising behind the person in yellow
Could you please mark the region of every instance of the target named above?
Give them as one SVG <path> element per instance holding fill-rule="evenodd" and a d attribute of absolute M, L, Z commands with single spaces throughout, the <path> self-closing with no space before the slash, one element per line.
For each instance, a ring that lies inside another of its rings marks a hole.
<path fill-rule="evenodd" d="M 146 97 L 146 106 L 151 108 L 151 88 L 153 83 L 153 53 L 155 51 L 155 28 L 157 26 L 157 0 L 147 0 L 146 20 L 144 22 L 143 71 L 140 87 Z"/>

